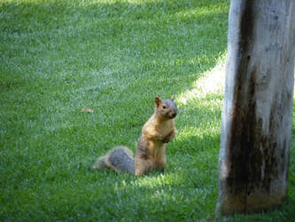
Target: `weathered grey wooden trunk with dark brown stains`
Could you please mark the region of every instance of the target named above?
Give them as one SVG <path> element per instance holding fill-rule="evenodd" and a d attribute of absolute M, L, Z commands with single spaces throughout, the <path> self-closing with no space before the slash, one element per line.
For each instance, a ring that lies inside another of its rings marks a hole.
<path fill-rule="evenodd" d="M 287 193 L 295 1 L 232 0 L 217 213 L 252 213 Z"/>

